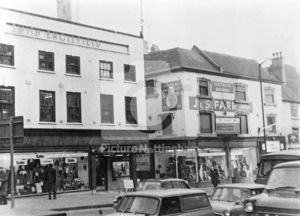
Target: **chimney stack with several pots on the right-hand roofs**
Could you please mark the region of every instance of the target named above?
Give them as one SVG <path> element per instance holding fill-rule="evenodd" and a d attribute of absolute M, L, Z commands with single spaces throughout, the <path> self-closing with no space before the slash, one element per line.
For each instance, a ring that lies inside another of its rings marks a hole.
<path fill-rule="evenodd" d="M 277 77 L 280 81 L 286 83 L 286 72 L 284 69 L 284 57 L 282 57 L 282 52 L 273 53 L 272 64 L 268 68 L 268 72 Z"/>

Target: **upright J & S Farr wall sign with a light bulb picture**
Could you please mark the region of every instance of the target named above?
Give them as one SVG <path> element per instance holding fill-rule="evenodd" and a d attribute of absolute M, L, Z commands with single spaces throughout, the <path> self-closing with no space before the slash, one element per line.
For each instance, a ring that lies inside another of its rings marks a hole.
<path fill-rule="evenodd" d="M 161 83 L 162 111 L 173 111 L 182 109 L 181 81 Z"/>

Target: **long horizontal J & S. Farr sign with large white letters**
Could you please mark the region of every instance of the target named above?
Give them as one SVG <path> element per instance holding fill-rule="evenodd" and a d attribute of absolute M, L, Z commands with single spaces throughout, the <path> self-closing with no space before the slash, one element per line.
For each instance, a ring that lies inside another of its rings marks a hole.
<path fill-rule="evenodd" d="M 226 112 L 248 112 L 252 113 L 252 102 L 249 104 L 236 104 L 233 100 L 226 99 L 205 99 L 198 97 L 189 97 L 190 109 L 194 110 L 211 110 Z"/>

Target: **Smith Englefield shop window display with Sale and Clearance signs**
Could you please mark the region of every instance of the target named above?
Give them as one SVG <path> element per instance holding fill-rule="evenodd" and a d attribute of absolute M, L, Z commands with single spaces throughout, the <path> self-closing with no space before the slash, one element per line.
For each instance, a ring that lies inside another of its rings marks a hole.
<path fill-rule="evenodd" d="M 10 169 L 10 153 L 0 154 L 0 166 L 7 169 L 7 193 L 10 194 L 10 172 L 14 172 L 16 195 L 47 192 L 44 173 L 49 163 L 56 170 L 57 191 L 88 188 L 88 153 L 82 151 L 14 153 L 14 166 Z"/>

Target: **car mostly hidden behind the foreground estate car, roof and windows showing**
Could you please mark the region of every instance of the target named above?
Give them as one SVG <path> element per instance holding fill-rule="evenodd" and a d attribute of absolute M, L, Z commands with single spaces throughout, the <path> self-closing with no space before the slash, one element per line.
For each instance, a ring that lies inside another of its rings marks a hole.
<path fill-rule="evenodd" d="M 134 191 L 153 190 L 159 188 L 187 188 L 191 189 L 187 181 L 174 178 L 159 178 L 141 180 Z M 116 208 L 124 195 L 115 196 L 113 199 L 113 207 Z"/>

